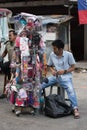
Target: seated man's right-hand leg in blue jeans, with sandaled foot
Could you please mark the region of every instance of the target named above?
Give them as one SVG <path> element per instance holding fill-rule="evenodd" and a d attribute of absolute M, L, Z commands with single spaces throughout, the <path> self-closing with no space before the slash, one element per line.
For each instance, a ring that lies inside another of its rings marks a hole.
<path fill-rule="evenodd" d="M 68 98 L 71 101 L 72 108 L 74 110 L 74 117 L 79 118 L 79 112 L 78 112 L 78 102 L 76 93 L 74 90 L 72 79 L 69 79 L 68 81 L 59 81 L 59 84 L 65 88 Z"/>

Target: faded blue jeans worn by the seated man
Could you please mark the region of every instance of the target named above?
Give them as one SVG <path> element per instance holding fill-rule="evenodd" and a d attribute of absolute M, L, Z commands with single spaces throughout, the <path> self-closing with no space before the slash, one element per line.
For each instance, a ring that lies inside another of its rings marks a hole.
<path fill-rule="evenodd" d="M 49 86 L 52 86 L 52 85 L 58 83 L 58 84 L 60 84 L 60 86 L 62 86 L 66 90 L 68 98 L 71 101 L 72 108 L 73 109 L 78 108 L 77 97 L 76 97 L 76 93 L 74 90 L 72 78 L 70 78 L 66 81 L 63 81 L 62 78 L 60 78 L 60 77 L 56 78 L 55 76 L 50 76 L 50 77 L 48 77 L 48 80 L 49 80 L 48 83 L 45 83 L 45 82 L 42 83 L 41 89 L 40 89 L 40 95 L 41 95 L 41 91 L 44 88 L 47 88 Z"/>

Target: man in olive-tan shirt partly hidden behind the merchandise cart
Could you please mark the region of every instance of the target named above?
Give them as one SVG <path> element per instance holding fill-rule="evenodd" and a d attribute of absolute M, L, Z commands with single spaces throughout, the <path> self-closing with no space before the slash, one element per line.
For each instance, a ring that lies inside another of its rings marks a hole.
<path fill-rule="evenodd" d="M 12 52 L 14 50 L 16 36 L 17 36 L 17 34 L 15 33 L 15 31 L 13 29 L 11 29 L 9 31 L 9 40 L 6 43 L 5 50 L 1 56 L 3 59 L 8 54 L 8 62 L 5 62 L 1 65 L 1 69 L 2 69 L 3 73 L 5 74 L 5 79 L 4 79 L 3 94 L 0 95 L 0 98 L 5 97 L 4 91 L 5 91 L 5 85 L 6 85 L 6 77 L 8 77 L 8 80 L 10 80 L 10 78 L 11 78 L 10 62 L 12 60 Z"/>

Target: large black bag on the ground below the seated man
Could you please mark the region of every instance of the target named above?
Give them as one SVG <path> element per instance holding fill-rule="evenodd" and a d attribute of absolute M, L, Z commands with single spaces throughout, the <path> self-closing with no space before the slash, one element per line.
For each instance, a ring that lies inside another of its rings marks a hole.
<path fill-rule="evenodd" d="M 53 118 L 64 117 L 72 114 L 72 107 L 60 95 L 45 97 L 45 115 Z"/>

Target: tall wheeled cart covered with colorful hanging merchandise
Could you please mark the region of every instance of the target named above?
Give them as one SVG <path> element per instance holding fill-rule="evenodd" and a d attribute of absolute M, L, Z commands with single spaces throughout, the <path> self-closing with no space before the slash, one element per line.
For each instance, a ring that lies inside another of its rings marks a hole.
<path fill-rule="evenodd" d="M 40 108 L 39 89 L 46 76 L 45 44 L 39 31 L 41 19 L 21 13 L 14 16 L 18 33 L 11 67 L 11 80 L 6 85 L 7 98 L 16 115 L 22 111 L 35 113 Z"/>

